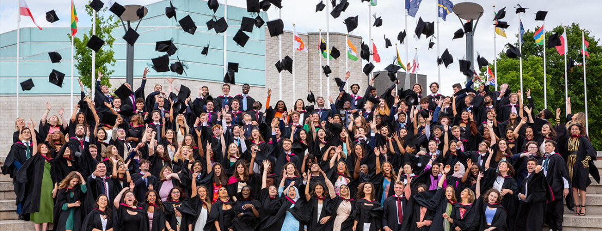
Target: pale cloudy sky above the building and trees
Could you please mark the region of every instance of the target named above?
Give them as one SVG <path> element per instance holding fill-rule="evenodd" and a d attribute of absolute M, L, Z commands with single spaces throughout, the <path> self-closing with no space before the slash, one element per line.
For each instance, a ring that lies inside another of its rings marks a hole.
<path fill-rule="evenodd" d="M 38 25 L 42 28 L 49 27 L 69 27 L 70 20 L 70 1 L 69 0 L 25 0 L 34 14 L 34 19 Z M 108 5 L 108 0 L 102 0 L 105 2 L 105 7 Z M 220 4 L 223 4 L 225 0 L 218 0 Z M 340 0 L 337 0 L 339 2 Z M 0 1 L 0 33 L 12 31 L 17 28 L 17 13 L 19 12 L 18 7 L 19 0 L 2 0 Z M 88 3 L 88 0 L 74 0 L 76 10 L 78 11 L 79 23 L 78 26 L 85 27 L 90 26 L 90 17 L 85 14 L 84 5 Z M 147 5 L 159 0 L 120 0 L 117 1 L 119 4 L 139 4 Z M 178 0 L 175 0 L 175 7 L 177 8 Z M 359 16 L 359 25 L 350 34 L 362 36 L 365 43 L 368 44 L 368 38 L 373 38 L 374 44 L 376 44 L 378 53 L 380 55 L 381 62 L 376 63 L 376 70 L 382 70 L 388 64 L 393 62 L 396 56 L 395 43 L 397 41 L 397 34 L 403 31 L 406 24 L 408 28 L 408 62 L 412 62 L 415 53 L 418 54 L 418 62 L 420 64 L 420 70 L 418 73 L 426 74 L 428 76 L 428 82 L 439 82 L 438 80 L 438 67 L 436 59 L 438 54 L 448 49 L 454 58 L 453 64 L 450 64 L 447 68 L 443 65 L 441 68 L 441 93 L 449 95 L 452 92 L 451 86 L 453 83 L 465 82 L 465 76 L 459 71 L 458 60 L 464 59 L 466 56 L 466 40 L 464 38 L 458 38 L 452 40 L 453 32 L 462 27 L 460 20 L 455 14 L 449 14 L 447 21 L 439 19 L 439 23 L 436 23 L 437 19 L 437 7 L 435 0 L 423 0 L 416 17 L 407 16 L 405 17 L 405 1 L 403 0 L 378 0 L 377 5 L 374 7 L 368 7 L 368 2 L 361 2 L 360 0 L 349 0 L 349 8 L 337 19 L 330 16 L 329 11 L 324 9 L 323 11 L 315 12 L 315 5 L 320 2 L 319 0 L 283 0 L 282 1 L 282 20 L 285 24 L 285 30 L 293 31 L 293 23 L 296 25 L 296 29 L 300 33 L 304 32 L 317 32 L 318 29 L 326 31 L 328 28 L 330 32 L 347 32 L 346 26 L 343 21 L 347 17 Z M 332 10 L 329 0 L 325 0 L 324 4 L 329 6 Z M 453 1 L 454 4 L 465 1 Z M 514 7 L 517 4 L 521 4 L 522 7 L 528 8 L 526 13 L 521 13 L 520 17 L 523 21 L 525 30 L 532 30 L 536 26 L 541 26 L 541 21 L 535 21 L 535 13 L 539 10 L 548 11 L 545 28 L 553 28 L 557 25 L 570 25 L 571 23 L 579 23 L 582 28 L 591 31 L 591 35 L 600 38 L 602 37 L 602 31 L 598 30 L 599 25 L 602 24 L 602 19 L 594 17 L 599 14 L 599 9 L 602 8 L 602 1 L 597 0 L 576 0 L 576 1 L 560 1 L 560 0 L 529 0 L 529 1 L 517 1 L 517 0 L 475 0 L 484 9 L 483 17 L 481 17 L 474 35 L 474 57 L 476 59 L 477 53 L 488 59 L 489 62 L 493 62 L 495 54 L 506 50 L 504 44 L 515 43 L 518 38 L 519 19 L 518 15 L 514 12 Z M 59 5 L 61 4 L 61 5 Z M 494 26 L 492 25 L 492 19 L 495 11 L 506 7 L 506 17 L 502 19 L 506 21 L 510 27 L 506 29 L 507 38 L 497 36 L 494 46 Z M 246 1 L 244 0 L 230 0 L 228 5 L 235 5 L 238 7 L 246 7 Z M 167 5 L 166 5 L 167 6 Z M 45 12 L 49 10 L 57 11 L 60 20 L 55 23 L 49 23 L 45 19 Z M 220 8 L 219 10 L 223 10 Z M 267 11 L 269 20 L 279 18 L 278 8 L 272 6 Z M 372 17 L 369 13 L 376 14 L 377 17 L 382 17 L 383 24 L 380 27 L 374 27 L 369 24 L 368 17 Z M 328 17 L 328 20 L 327 20 Z M 418 18 L 422 17 L 425 22 L 435 22 L 435 36 L 428 39 L 421 36 L 418 40 L 414 37 L 414 29 L 418 22 Z M 328 23 L 327 23 L 328 21 Z M 327 25 L 328 24 L 328 25 Z M 437 34 L 437 24 L 439 25 L 439 35 Z M 21 17 L 20 26 L 23 27 L 34 27 L 34 23 L 29 17 Z M 325 36 L 325 35 L 324 35 Z M 385 40 L 383 36 L 386 36 L 393 43 L 393 47 L 385 49 Z M 437 52 L 437 45 L 433 46 L 433 49 L 428 49 L 430 39 L 437 43 L 436 37 L 439 38 L 439 52 Z M 524 38 L 524 40 L 530 40 L 533 38 Z M 399 55 L 404 63 L 406 60 L 406 44 L 397 44 L 399 49 Z M 312 49 L 312 48 L 310 48 Z M 344 49 L 344 48 L 343 48 Z M 359 49 L 359 47 L 358 47 Z M 495 49 L 495 52 L 494 52 Z M 341 50 L 341 49 L 340 49 Z M 358 50 L 359 53 L 359 50 Z M 359 62 L 359 60 L 358 60 Z M 365 64 L 365 61 L 363 61 Z M 518 69 L 518 67 L 517 67 Z M 493 70 L 492 70 L 493 71 Z"/>

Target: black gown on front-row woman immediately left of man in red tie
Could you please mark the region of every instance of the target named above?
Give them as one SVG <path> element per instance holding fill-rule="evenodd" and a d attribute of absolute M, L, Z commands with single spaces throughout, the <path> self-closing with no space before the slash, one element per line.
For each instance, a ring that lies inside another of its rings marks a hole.
<path fill-rule="evenodd" d="M 365 205 L 371 204 L 371 205 Z M 383 209 L 377 200 L 358 199 L 353 205 L 351 217 L 358 221 L 356 231 L 376 231 L 382 229 Z M 364 230 L 364 223 L 370 223 L 370 230 Z"/>

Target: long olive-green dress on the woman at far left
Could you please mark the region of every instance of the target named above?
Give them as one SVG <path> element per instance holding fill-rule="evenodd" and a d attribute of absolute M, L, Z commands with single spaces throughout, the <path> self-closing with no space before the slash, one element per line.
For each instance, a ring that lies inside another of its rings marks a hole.
<path fill-rule="evenodd" d="M 44 161 L 44 173 L 42 176 L 42 190 L 40 191 L 40 210 L 30 215 L 30 220 L 36 224 L 52 223 L 52 178 L 50 175 L 50 163 Z"/>

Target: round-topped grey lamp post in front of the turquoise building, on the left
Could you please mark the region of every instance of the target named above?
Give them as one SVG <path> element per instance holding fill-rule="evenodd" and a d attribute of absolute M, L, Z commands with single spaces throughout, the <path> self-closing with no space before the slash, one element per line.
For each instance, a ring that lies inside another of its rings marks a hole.
<path fill-rule="evenodd" d="M 138 24 L 136 25 L 136 28 L 134 29 L 134 31 L 137 30 L 138 26 L 140 26 L 140 22 L 142 22 L 142 18 L 144 16 L 146 16 L 146 14 L 148 13 L 148 9 L 142 5 L 124 5 L 123 7 L 125 8 L 125 11 L 121 15 L 121 17 L 119 17 L 119 19 L 121 19 L 121 24 L 123 25 L 123 29 L 127 32 L 128 29 L 132 27 L 131 22 L 138 21 Z M 136 14 L 136 11 L 140 7 L 144 8 L 144 14 L 142 17 L 138 17 L 138 15 Z M 124 22 L 128 22 L 127 27 L 125 26 Z M 127 47 L 126 58 L 125 58 L 125 63 L 126 63 L 125 82 L 129 83 L 129 85 L 133 86 L 134 85 L 134 46 L 130 45 L 129 43 L 126 43 L 125 46 Z"/>

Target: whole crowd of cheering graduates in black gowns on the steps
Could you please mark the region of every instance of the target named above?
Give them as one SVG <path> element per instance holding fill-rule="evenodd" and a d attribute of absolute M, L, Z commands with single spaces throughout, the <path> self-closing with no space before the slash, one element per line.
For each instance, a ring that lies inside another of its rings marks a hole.
<path fill-rule="evenodd" d="M 96 83 L 70 118 L 17 118 L 2 173 L 36 230 L 562 230 L 600 180 L 585 115 L 486 82 L 293 104 L 250 86 Z M 362 91 L 361 91 L 362 90 Z M 215 91 L 214 91 L 215 92 Z M 365 92 L 361 94 L 361 92 Z M 426 93 L 429 92 L 429 93 Z M 422 96 L 426 95 L 426 96 Z M 523 98 L 526 100 L 523 101 Z M 555 115 L 554 115 L 555 114 Z M 566 206 L 566 208 L 565 208 Z"/>

